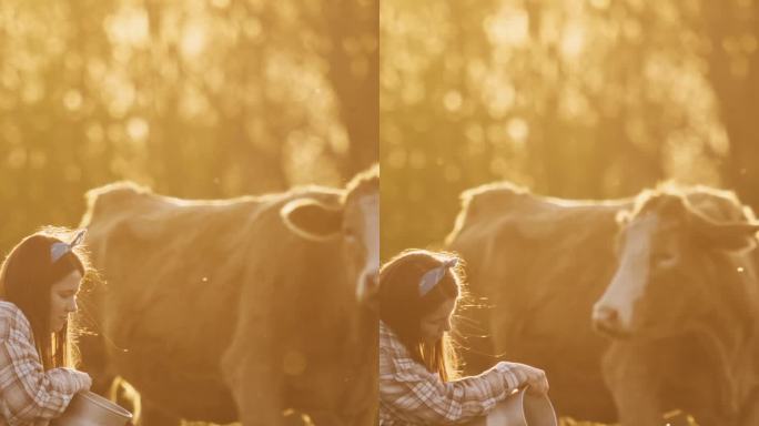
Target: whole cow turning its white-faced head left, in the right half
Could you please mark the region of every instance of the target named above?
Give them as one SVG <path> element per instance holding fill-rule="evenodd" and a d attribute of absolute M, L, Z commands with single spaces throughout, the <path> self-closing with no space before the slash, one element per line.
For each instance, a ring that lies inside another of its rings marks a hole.
<path fill-rule="evenodd" d="M 650 219 L 655 200 L 665 199 L 678 200 L 680 215 Z M 585 419 L 659 425 L 664 412 L 679 408 L 702 425 L 759 424 L 756 224 L 732 193 L 662 185 L 586 202 L 499 183 L 462 200 L 446 244 L 468 264 L 473 302 L 454 329 L 466 373 L 498 357 L 537 365 L 559 414 Z M 672 230 L 690 234 L 677 240 Z M 654 244 L 660 241 L 665 250 Z M 657 248 L 644 254 L 641 246 Z M 659 277 L 646 256 L 674 268 Z M 709 328 L 696 321 L 706 312 L 723 317 Z"/>

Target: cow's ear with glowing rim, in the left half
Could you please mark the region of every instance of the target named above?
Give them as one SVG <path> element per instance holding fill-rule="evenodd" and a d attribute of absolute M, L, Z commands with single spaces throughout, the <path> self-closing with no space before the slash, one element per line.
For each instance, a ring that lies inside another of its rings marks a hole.
<path fill-rule="evenodd" d="M 280 215 L 287 229 L 311 241 L 335 239 L 343 226 L 341 205 L 328 205 L 314 199 L 290 201 L 280 210 Z"/>

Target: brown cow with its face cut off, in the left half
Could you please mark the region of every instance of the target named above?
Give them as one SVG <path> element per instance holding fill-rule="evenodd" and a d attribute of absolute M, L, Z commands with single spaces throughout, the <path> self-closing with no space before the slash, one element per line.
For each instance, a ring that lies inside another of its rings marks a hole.
<path fill-rule="evenodd" d="M 90 191 L 104 283 L 81 297 L 83 367 L 101 389 L 133 385 L 148 426 L 372 425 L 378 182 L 374 166 L 345 189 L 229 200 Z"/>

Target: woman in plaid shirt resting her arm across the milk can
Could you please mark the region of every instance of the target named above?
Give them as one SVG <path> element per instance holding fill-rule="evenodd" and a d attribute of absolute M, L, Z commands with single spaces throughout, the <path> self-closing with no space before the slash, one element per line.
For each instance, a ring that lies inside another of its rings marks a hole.
<path fill-rule="evenodd" d="M 543 371 L 500 362 L 456 378 L 446 332 L 461 295 L 458 258 L 409 250 L 380 271 L 380 425 L 451 425 L 486 415 L 512 390 L 548 392 Z"/>

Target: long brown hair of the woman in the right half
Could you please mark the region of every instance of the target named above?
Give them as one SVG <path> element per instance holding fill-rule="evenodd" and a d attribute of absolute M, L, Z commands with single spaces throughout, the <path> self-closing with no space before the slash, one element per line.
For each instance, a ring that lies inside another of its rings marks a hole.
<path fill-rule="evenodd" d="M 380 318 L 414 359 L 443 381 L 458 375 L 458 358 L 447 335 L 434 343 L 424 341 L 422 318 L 446 301 L 461 298 L 461 266 L 446 268 L 443 278 L 424 296 L 419 296 L 418 285 L 426 272 L 452 257 L 455 256 L 448 253 L 412 248 L 397 254 L 380 270 Z"/>

